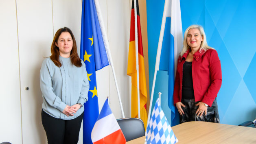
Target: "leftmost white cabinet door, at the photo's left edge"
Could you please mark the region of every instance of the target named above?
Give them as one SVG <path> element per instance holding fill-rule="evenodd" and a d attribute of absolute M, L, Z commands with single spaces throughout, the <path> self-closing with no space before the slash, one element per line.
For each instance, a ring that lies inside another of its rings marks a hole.
<path fill-rule="evenodd" d="M 0 0 L 0 143 L 22 143 L 15 0 Z"/>

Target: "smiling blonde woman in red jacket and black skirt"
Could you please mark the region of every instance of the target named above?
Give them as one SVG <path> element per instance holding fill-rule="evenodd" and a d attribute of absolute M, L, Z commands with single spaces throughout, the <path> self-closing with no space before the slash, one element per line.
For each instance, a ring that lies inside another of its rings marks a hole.
<path fill-rule="evenodd" d="M 173 100 L 180 123 L 219 123 L 216 97 L 221 88 L 221 62 L 208 46 L 203 28 L 192 25 L 184 33 L 183 50 L 177 61 Z"/>

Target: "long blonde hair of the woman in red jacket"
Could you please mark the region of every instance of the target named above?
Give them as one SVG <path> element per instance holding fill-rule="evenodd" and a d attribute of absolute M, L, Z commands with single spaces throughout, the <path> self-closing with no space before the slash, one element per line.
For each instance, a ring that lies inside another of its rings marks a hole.
<path fill-rule="evenodd" d="M 200 31 L 200 35 L 203 37 L 203 41 L 201 42 L 201 47 L 199 49 L 199 52 L 201 53 L 202 50 L 208 50 L 208 49 L 213 49 L 212 47 L 208 46 L 207 44 L 207 41 L 206 41 L 206 34 L 204 33 L 203 31 L 203 27 L 202 26 L 199 26 L 199 25 L 192 25 L 192 26 L 189 26 L 185 33 L 184 33 L 184 40 L 183 40 L 183 49 L 182 49 L 182 52 L 180 52 L 180 56 L 182 57 L 182 55 L 184 55 L 184 53 L 190 48 L 190 46 L 188 46 L 188 42 L 187 42 L 187 37 L 188 37 L 188 31 L 190 29 L 193 29 L 193 28 L 197 28 L 199 31 Z"/>

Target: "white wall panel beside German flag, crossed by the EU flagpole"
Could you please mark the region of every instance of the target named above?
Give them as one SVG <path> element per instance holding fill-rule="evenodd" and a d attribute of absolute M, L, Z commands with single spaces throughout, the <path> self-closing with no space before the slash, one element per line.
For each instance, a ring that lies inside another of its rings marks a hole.
<path fill-rule="evenodd" d="M 114 6 L 114 7 L 113 7 Z M 107 1 L 108 37 L 112 50 L 115 72 L 118 79 L 120 95 L 125 109 L 125 117 L 130 117 L 131 82 L 127 76 L 128 50 L 130 39 L 130 2 L 129 0 Z M 116 118 L 120 115 L 119 102 L 114 86 L 112 70 L 110 72 L 110 107 Z"/>

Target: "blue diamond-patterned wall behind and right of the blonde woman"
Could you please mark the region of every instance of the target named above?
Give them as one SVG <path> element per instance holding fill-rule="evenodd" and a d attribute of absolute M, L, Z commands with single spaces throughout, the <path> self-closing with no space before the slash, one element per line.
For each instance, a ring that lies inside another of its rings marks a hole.
<path fill-rule="evenodd" d="M 183 31 L 203 26 L 219 54 L 222 86 L 217 97 L 220 121 L 238 125 L 256 115 L 256 1 L 180 0 Z"/>

